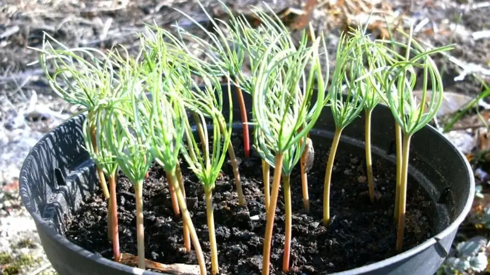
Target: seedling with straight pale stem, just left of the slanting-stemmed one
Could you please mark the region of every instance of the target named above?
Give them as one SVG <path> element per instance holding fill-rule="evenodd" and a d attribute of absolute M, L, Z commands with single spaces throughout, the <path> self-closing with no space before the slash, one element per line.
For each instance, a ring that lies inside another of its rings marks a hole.
<path fill-rule="evenodd" d="M 143 181 L 152 166 L 154 154 L 151 138 L 143 126 L 148 123 L 141 104 L 141 98 L 146 97 L 143 93 L 144 83 L 131 65 L 133 63 L 128 62 L 125 68 L 120 69 L 124 94 L 105 109 L 111 114 L 107 117 L 109 126 L 105 127 L 105 136 L 120 170 L 134 186 L 138 267 L 144 269 Z"/>

